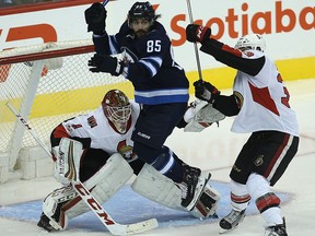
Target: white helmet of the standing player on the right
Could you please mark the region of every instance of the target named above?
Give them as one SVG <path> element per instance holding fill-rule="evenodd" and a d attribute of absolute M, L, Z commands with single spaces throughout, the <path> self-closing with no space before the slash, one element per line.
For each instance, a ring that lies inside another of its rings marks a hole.
<path fill-rule="evenodd" d="M 266 50 L 266 42 L 259 34 L 245 35 L 238 39 L 235 45 L 235 49 L 240 49 L 242 51 L 252 49 L 264 52 Z"/>

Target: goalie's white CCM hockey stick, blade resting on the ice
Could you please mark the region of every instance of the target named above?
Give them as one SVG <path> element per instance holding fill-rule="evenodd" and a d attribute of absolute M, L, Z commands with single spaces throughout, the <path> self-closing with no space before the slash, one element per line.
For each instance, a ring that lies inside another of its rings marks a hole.
<path fill-rule="evenodd" d="M 31 128 L 26 120 L 14 109 L 14 107 L 8 102 L 5 104 L 8 108 L 15 115 L 15 117 L 24 125 L 31 135 L 36 140 L 36 142 L 45 150 L 48 156 L 51 157 L 51 152 L 46 146 L 44 142 L 39 139 L 38 134 Z M 79 179 L 72 179 L 71 184 L 81 199 L 89 205 L 89 208 L 94 212 L 98 220 L 105 225 L 105 227 L 113 235 L 131 235 L 142 233 L 152 228 L 158 227 L 156 219 L 150 219 L 133 224 L 118 224 L 115 222 L 110 215 L 103 209 L 103 206 L 96 201 L 96 199 L 91 194 L 91 192 L 85 188 L 85 186 Z"/>

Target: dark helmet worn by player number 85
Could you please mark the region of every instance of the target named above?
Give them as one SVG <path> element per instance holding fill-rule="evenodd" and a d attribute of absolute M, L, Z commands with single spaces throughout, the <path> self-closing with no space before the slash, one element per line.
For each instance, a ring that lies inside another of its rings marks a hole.
<path fill-rule="evenodd" d="M 129 25 L 132 21 L 137 19 L 147 19 L 149 22 L 153 23 L 158 16 L 150 2 L 136 2 L 128 12 Z"/>

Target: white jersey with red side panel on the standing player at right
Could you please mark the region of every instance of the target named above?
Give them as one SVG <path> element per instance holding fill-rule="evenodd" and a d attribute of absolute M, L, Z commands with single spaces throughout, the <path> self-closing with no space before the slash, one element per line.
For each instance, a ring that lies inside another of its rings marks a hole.
<path fill-rule="evenodd" d="M 264 56 L 257 50 L 242 55 L 248 59 Z M 266 57 L 264 67 L 255 76 L 238 70 L 233 92 L 241 106 L 231 128 L 233 132 L 276 130 L 299 137 L 296 116 L 289 105 L 289 92 L 270 58 Z"/>

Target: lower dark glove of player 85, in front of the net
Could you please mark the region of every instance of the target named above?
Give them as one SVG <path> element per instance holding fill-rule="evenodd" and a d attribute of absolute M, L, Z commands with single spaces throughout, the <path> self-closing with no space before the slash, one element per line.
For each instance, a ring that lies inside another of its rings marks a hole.
<path fill-rule="evenodd" d="M 118 61 L 117 58 L 110 57 L 108 55 L 98 55 L 95 54 L 89 60 L 90 71 L 92 72 L 107 72 L 114 76 L 118 76 L 122 73 L 124 62 Z"/>

